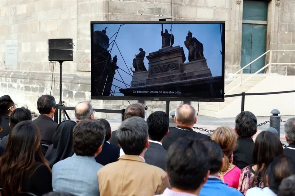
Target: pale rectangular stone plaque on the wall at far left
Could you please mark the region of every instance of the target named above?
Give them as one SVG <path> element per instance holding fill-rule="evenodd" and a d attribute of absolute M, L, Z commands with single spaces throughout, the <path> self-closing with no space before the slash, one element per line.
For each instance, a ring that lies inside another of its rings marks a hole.
<path fill-rule="evenodd" d="M 5 40 L 5 65 L 18 66 L 18 40 Z"/>

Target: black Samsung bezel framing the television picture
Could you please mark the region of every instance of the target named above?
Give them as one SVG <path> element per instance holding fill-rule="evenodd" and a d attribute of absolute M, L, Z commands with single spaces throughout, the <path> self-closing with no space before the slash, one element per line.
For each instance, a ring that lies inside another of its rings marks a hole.
<path fill-rule="evenodd" d="M 92 96 L 94 87 L 91 85 L 92 100 L 146 100 L 146 101 L 203 101 L 224 102 L 224 61 L 225 61 L 225 21 L 91 21 L 90 22 L 90 45 L 91 45 L 91 70 L 93 66 L 93 25 L 94 24 L 222 24 L 222 98 L 198 98 L 198 97 L 141 97 L 141 96 Z M 91 83 L 92 83 L 91 74 Z"/>

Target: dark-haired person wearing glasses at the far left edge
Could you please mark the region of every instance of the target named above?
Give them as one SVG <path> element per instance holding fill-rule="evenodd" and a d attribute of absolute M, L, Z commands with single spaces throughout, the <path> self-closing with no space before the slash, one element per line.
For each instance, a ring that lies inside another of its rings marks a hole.
<path fill-rule="evenodd" d="M 11 112 L 18 107 L 9 95 L 0 97 L 0 139 L 10 133 L 9 116 Z"/>

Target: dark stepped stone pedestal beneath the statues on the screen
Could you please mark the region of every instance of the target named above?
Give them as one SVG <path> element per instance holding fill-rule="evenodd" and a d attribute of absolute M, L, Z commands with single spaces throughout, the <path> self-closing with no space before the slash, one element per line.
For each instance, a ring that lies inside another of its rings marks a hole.
<path fill-rule="evenodd" d="M 183 47 L 164 47 L 149 53 L 148 70 L 135 72 L 131 87 L 120 89 L 124 96 L 134 96 L 134 91 L 181 92 L 173 96 L 219 97 L 222 78 L 212 77 L 206 59 L 184 63 Z M 140 93 L 140 96 L 167 96 L 167 94 Z"/>

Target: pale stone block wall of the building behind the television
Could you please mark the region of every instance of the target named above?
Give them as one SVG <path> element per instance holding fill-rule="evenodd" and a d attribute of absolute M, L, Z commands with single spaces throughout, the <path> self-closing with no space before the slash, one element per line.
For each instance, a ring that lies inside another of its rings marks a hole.
<path fill-rule="evenodd" d="M 226 21 L 227 76 L 240 68 L 242 5 L 239 0 L 0 0 L 0 95 L 10 94 L 19 105 L 26 104 L 37 111 L 37 97 L 49 94 L 51 89 L 53 62 L 48 61 L 47 40 L 73 38 L 74 60 L 63 63 L 63 100 L 67 106 L 89 100 L 90 21 L 147 21 L 159 17 L 171 17 L 173 21 Z M 270 1 L 267 50 L 294 50 L 294 9 L 294 0 Z M 18 66 L 5 66 L 5 40 L 18 40 Z M 295 56 L 277 52 L 273 60 L 295 62 Z M 294 74 L 294 68 L 277 66 L 272 72 Z M 55 73 L 54 96 L 59 100 L 59 65 L 55 66 Z M 121 109 L 129 104 L 92 102 L 96 108 L 106 109 Z M 177 104 L 172 102 L 171 108 Z M 165 108 L 164 102 L 147 105 L 149 112 Z"/>

